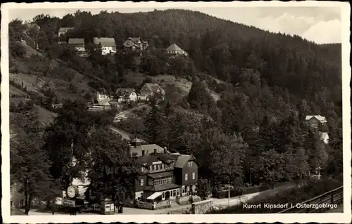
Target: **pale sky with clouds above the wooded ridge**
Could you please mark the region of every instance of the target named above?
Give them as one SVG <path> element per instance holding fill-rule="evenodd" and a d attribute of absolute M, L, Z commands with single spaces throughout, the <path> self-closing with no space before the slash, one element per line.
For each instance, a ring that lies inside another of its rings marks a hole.
<path fill-rule="evenodd" d="M 154 7 L 158 10 L 167 8 Z M 153 11 L 149 8 L 20 8 L 10 9 L 9 20 L 20 18 L 32 20 L 35 15 L 49 14 L 62 18 L 63 15 L 80 11 L 118 11 L 134 13 Z M 175 7 L 172 7 L 175 8 Z M 180 7 L 178 7 L 180 8 Z M 182 7 L 200 11 L 217 18 L 252 25 L 270 32 L 296 34 L 317 44 L 341 43 L 341 9 L 339 7 Z"/>

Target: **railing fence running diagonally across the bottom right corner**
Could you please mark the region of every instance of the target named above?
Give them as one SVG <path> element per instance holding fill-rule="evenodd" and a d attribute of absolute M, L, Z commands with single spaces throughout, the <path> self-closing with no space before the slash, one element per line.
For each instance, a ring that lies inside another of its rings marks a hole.
<path fill-rule="evenodd" d="M 313 197 L 305 202 L 298 203 L 291 206 L 289 209 L 284 209 L 279 211 L 279 213 L 318 213 L 325 211 L 326 209 L 331 209 L 332 205 L 340 204 L 344 200 L 344 186 L 337 187 L 334 190 L 325 192 L 322 195 Z M 326 204 L 325 206 L 322 206 Z"/>

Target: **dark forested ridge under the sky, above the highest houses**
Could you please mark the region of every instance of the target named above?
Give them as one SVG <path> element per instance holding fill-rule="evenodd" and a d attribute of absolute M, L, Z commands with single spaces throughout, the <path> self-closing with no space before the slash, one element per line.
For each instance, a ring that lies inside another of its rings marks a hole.
<path fill-rule="evenodd" d="M 48 22 L 51 21 L 51 22 Z M 312 100 L 329 88 L 334 101 L 341 98 L 341 45 L 317 45 L 301 37 L 265 32 L 235 22 L 187 10 L 148 13 L 76 12 L 62 20 L 39 15 L 51 43 L 59 27 L 75 27 L 69 37 L 115 37 L 121 46 L 127 37 L 141 37 L 151 46 L 172 43 L 189 52 L 199 72 L 237 84 L 243 68 L 256 69 L 269 86 L 287 88 L 299 98 Z M 40 43 L 39 43 L 40 44 Z M 43 46 L 44 48 L 46 46 Z M 330 99 L 328 99 L 330 100 Z"/>

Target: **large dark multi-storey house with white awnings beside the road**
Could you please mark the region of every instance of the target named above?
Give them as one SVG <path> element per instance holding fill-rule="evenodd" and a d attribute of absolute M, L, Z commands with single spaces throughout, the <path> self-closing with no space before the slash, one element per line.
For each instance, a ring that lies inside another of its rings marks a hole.
<path fill-rule="evenodd" d="M 190 155 L 170 154 L 158 145 L 135 145 L 142 165 L 136 180 L 135 199 L 142 202 L 163 202 L 196 192 L 198 162 Z M 142 153 L 139 153 L 141 152 Z M 132 151 L 131 151 L 132 152 Z"/>

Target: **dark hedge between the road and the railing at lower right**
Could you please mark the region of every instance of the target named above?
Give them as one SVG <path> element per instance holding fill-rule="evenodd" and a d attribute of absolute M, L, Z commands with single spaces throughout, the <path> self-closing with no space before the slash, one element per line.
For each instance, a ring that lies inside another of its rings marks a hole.
<path fill-rule="evenodd" d="M 322 195 L 341 185 L 341 181 L 331 179 L 307 180 L 301 187 L 296 185 L 295 187 L 282 187 L 277 191 L 274 189 L 272 191 L 263 192 L 246 202 L 247 204 L 261 204 L 260 208 L 246 209 L 243 206 L 244 204 L 238 204 L 226 209 L 210 211 L 210 213 L 277 213 L 283 209 L 265 209 L 263 204 L 297 204 Z"/>

